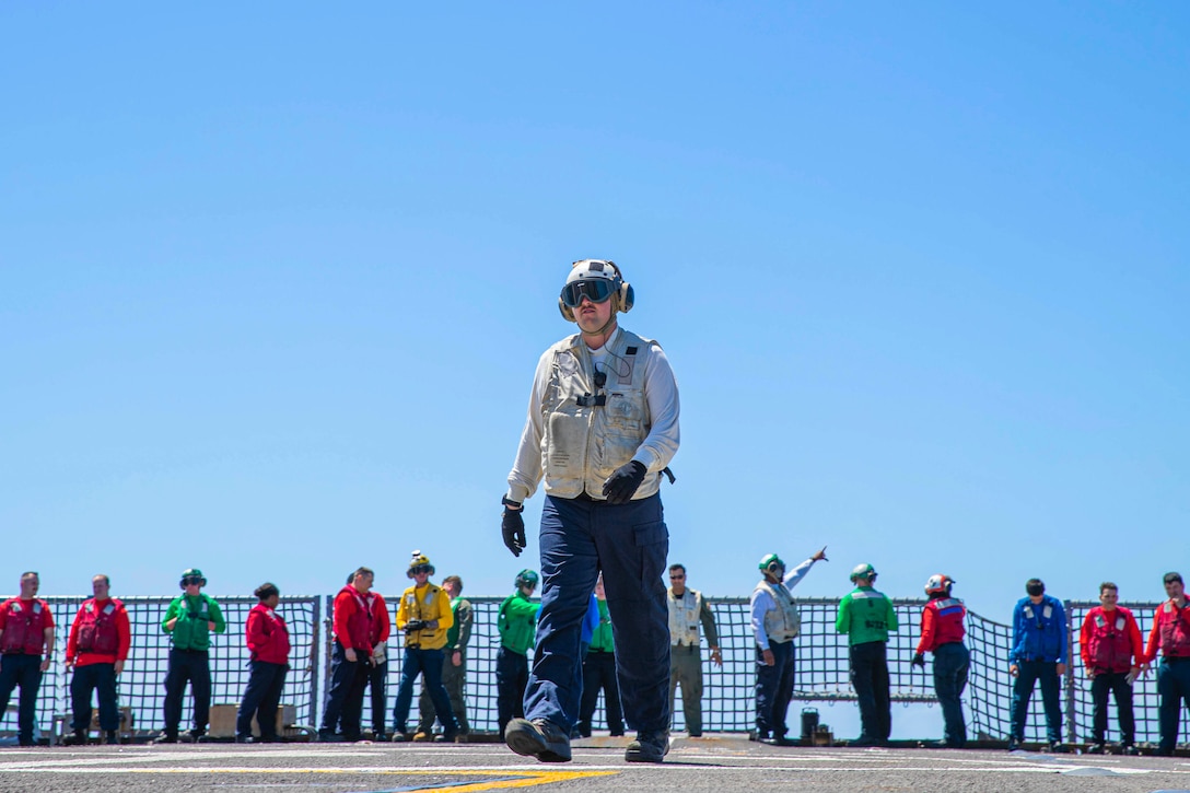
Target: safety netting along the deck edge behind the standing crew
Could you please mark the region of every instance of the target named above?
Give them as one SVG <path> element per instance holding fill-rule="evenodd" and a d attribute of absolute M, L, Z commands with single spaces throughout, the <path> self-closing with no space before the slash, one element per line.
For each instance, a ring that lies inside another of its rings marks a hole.
<path fill-rule="evenodd" d="M 83 598 L 46 598 L 58 626 L 57 651 L 44 675 L 37 703 L 37 722 L 43 732 L 54 729 L 55 722 L 69 719 L 69 674 L 63 666 L 67 631 Z M 236 705 L 243 697 L 249 678 L 249 654 L 244 645 L 244 623 L 255 598 L 217 598 L 227 620 L 227 632 L 215 636 L 211 649 L 212 703 Z M 396 602 L 393 598 L 392 602 Z M 501 598 L 469 598 L 474 608 L 474 626 L 466 652 L 466 708 L 474 732 L 496 730 L 495 661 L 500 647 L 496 613 Z M 752 638 L 749 600 L 746 598 L 708 598 L 715 614 L 724 663 L 710 663 L 710 652 L 703 638 L 703 730 L 707 732 L 744 732 L 754 725 L 756 645 Z M 161 619 L 170 598 L 124 598 L 132 626 L 132 652 L 119 680 L 120 705 L 132 708 L 134 729 L 155 731 L 162 726 L 164 680 L 169 661 L 169 637 L 161 629 Z M 278 612 L 289 625 L 293 668 L 286 680 L 282 701 L 296 708 L 296 723 L 318 726 L 321 719 L 326 682 L 330 673 L 332 598 L 286 597 Z M 838 600 L 798 599 L 802 617 L 801 635 L 794 639 L 795 682 L 794 710 L 798 704 L 854 701 L 847 660 L 847 641 L 835 631 Z M 325 604 L 325 605 L 324 605 Z M 914 648 L 920 633 L 923 600 L 895 599 L 898 630 L 889 641 L 889 676 L 891 698 L 897 703 L 932 704 L 931 666 L 925 670 L 913 667 Z M 1069 742 L 1089 741 L 1091 737 L 1092 703 L 1088 680 L 1078 652 L 1078 635 L 1086 612 L 1097 602 L 1067 601 L 1066 619 L 1070 631 L 1070 668 L 1061 679 L 1063 736 Z M 1136 617 L 1142 636 L 1147 638 L 1153 612 L 1158 604 L 1122 604 Z M 967 614 L 966 644 L 971 651 L 971 669 L 964 706 L 967 730 L 972 738 L 1006 739 L 1010 726 L 1013 678 L 1008 674 L 1012 629 L 1002 623 Z M 625 649 L 621 651 L 631 651 Z M 532 654 L 530 654 L 532 660 Z M 928 656 L 927 656 L 928 657 Z M 394 636 L 389 650 L 387 706 L 383 723 L 392 726 L 392 707 L 401 673 L 400 636 Z M 420 686 L 419 686 L 420 691 Z M 1158 738 L 1158 694 L 1155 673 L 1136 680 L 1133 686 L 1136 716 L 1136 741 L 1155 742 Z M 681 697 L 681 694 L 679 694 Z M 8 711 L 0 714 L 0 731 L 12 735 L 17 730 L 17 693 Z M 189 694 L 183 700 L 182 729 L 192 718 Z M 418 720 L 418 700 L 413 701 L 408 724 Z M 603 724 L 602 697 L 595 714 L 595 725 Z M 1190 735 L 1190 719 L 1183 712 L 1180 733 Z M 793 717 L 791 717 L 793 719 Z M 371 698 L 364 698 L 363 724 L 370 726 Z M 793 720 L 790 722 L 794 726 Z M 674 728 L 684 729 L 681 700 L 674 713 Z M 796 730 L 796 726 L 794 726 Z M 1029 703 L 1026 741 L 1042 741 L 1045 716 L 1040 686 Z M 1109 707 L 1108 739 L 1119 739 L 1119 719 L 1114 703 Z"/>

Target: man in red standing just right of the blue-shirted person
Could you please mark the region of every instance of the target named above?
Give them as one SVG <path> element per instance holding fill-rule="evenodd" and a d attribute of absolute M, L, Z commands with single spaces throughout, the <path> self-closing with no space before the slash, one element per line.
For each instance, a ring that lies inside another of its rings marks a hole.
<path fill-rule="evenodd" d="M 1091 679 L 1091 745 L 1088 754 L 1107 751 L 1104 735 L 1108 729 L 1108 693 L 1115 698 L 1120 712 L 1120 743 L 1123 754 L 1140 754 L 1135 747 L 1136 718 L 1132 711 L 1132 683 L 1140 674 L 1145 648 L 1140 639 L 1136 618 L 1123 606 L 1117 606 L 1116 585 L 1100 585 L 1100 605 L 1086 612 L 1078 635 L 1078 650 L 1083 668 Z M 1133 661 L 1135 658 L 1135 662 Z"/>

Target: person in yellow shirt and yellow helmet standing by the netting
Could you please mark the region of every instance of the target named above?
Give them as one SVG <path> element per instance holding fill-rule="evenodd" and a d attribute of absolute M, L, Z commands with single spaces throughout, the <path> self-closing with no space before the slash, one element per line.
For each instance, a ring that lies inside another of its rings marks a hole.
<path fill-rule="evenodd" d="M 396 706 L 393 708 L 393 741 L 412 741 L 406 729 L 409 706 L 413 704 L 413 681 L 424 675 L 422 685 L 430 691 L 438 720 L 443 723 L 443 739 L 455 741 L 459 735 L 458 722 L 450 707 L 450 694 L 443 685 L 443 648 L 446 631 L 455 624 L 450 607 L 450 595 L 445 589 L 430 583 L 434 566 L 419 550 L 413 551 L 406 574 L 413 586 L 401 595 L 396 607 L 396 629 L 405 632 L 405 658 L 401 662 L 401 685 L 396 689 Z"/>

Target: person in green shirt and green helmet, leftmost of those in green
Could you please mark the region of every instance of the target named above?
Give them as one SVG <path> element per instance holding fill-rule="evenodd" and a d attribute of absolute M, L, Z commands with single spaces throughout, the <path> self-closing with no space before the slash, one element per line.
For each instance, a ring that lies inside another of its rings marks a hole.
<path fill-rule="evenodd" d="M 227 630 L 223 611 L 214 598 L 202 593 L 207 579 L 192 567 L 182 573 L 182 594 L 170 601 L 161 629 L 169 633 L 169 667 L 165 673 L 165 731 L 157 743 L 177 743 L 182 720 L 182 697 L 189 681 L 194 694 L 194 728 L 186 736 L 199 741 L 207 733 L 211 718 L 211 631 Z"/>

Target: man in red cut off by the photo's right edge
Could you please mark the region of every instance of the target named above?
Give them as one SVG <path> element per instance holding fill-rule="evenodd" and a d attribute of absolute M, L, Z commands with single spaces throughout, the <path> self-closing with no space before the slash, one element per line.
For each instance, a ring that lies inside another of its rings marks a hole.
<path fill-rule="evenodd" d="M 1170 597 L 1153 614 L 1153 630 L 1145 648 L 1145 666 L 1157 660 L 1161 651 L 1161 666 L 1157 668 L 1157 693 L 1159 706 L 1160 742 L 1157 754 L 1169 757 L 1178 742 L 1178 719 L 1182 701 L 1190 706 L 1190 610 L 1186 608 L 1185 583 L 1179 573 L 1166 573 L 1165 594 Z"/>

